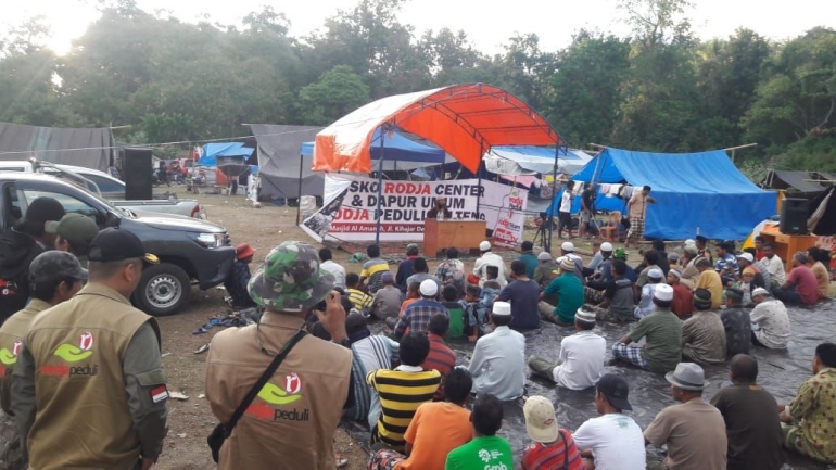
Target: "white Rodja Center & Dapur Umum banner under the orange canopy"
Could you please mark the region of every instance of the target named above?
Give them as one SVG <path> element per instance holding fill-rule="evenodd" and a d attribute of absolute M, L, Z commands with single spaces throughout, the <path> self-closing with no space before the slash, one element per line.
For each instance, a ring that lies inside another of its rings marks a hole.
<path fill-rule="evenodd" d="M 529 192 L 493 181 L 383 181 L 380 241 L 421 241 L 427 212 L 435 198 L 446 198 L 453 219 L 485 220 L 497 244 L 522 240 Z M 477 215 L 477 201 L 481 198 Z M 378 181 L 326 175 L 325 204 L 301 227 L 317 241 L 372 241 L 377 231 Z"/>

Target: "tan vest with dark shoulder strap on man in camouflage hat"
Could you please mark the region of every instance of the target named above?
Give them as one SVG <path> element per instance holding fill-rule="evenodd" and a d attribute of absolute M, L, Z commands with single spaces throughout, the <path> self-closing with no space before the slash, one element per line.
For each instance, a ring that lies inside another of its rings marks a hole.
<path fill-rule="evenodd" d="M 264 347 L 281 350 L 303 322 L 265 313 Z M 229 422 L 270 360 L 261 351 L 255 326 L 215 335 L 206 359 L 206 398 L 221 422 Z M 303 338 L 224 443 L 218 469 L 334 469 L 333 434 L 349 395 L 351 368 L 351 350 L 313 335 Z"/>

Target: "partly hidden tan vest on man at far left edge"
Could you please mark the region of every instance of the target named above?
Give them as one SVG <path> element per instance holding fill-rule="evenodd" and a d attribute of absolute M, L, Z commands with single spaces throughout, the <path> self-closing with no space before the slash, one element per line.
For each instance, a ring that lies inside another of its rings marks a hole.
<path fill-rule="evenodd" d="M 49 308 L 51 305 L 33 298 L 29 305 L 21 312 L 9 317 L 0 327 L 0 407 L 8 414 L 11 399 L 9 389 L 12 384 L 12 372 L 17 364 L 17 356 L 23 348 L 23 336 L 35 316 Z"/>

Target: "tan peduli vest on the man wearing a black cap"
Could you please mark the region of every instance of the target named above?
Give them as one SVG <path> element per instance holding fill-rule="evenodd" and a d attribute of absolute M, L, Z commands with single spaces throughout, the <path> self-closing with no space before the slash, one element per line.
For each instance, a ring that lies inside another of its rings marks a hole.
<path fill-rule="evenodd" d="M 134 334 L 148 321 L 159 338 L 154 318 L 116 291 L 90 283 L 31 322 L 24 341 L 35 360 L 30 469 L 137 463 L 140 445 L 122 364 Z"/>

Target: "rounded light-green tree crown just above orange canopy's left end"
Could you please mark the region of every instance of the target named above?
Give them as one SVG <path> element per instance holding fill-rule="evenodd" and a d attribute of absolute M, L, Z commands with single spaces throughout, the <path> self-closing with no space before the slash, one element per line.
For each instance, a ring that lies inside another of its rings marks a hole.
<path fill-rule="evenodd" d="M 327 126 L 371 101 L 369 87 L 347 65 L 338 65 L 299 92 L 305 122 Z"/>

